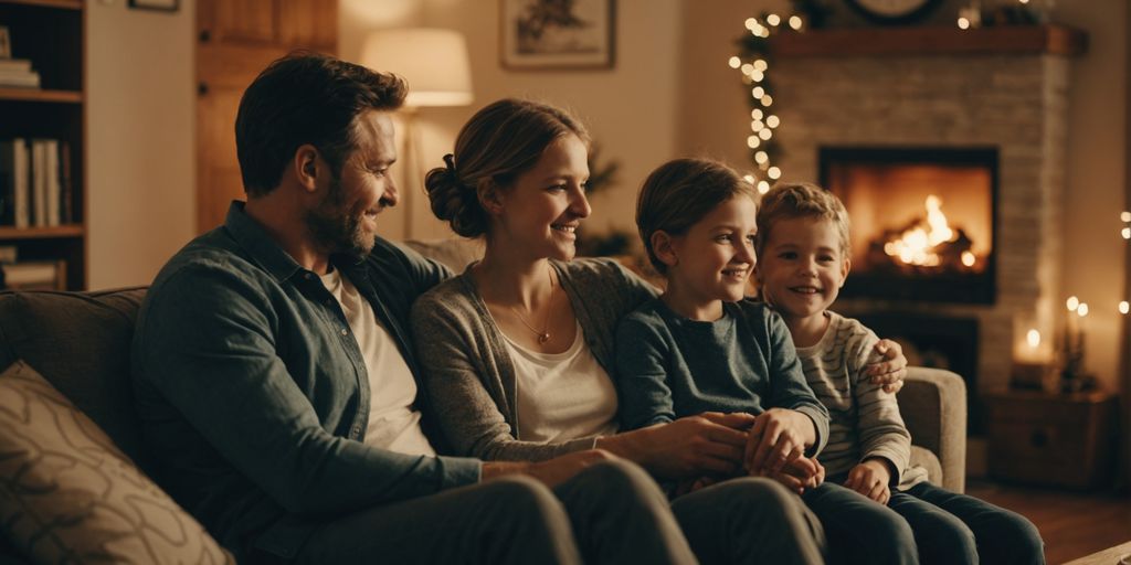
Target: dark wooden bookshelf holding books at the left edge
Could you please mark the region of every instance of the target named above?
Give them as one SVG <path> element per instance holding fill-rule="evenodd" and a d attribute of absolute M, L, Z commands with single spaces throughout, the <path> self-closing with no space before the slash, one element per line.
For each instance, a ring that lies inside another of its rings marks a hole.
<path fill-rule="evenodd" d="M 57 140 L 66 148 L 59 160 L 62 153 L 69 160 L 58 193 L 67 211 L 57 225 L 35 225 L 34 214 L 27 227 L 7 218 L 0 223 L 0 251 L 15 247 L 17 262 L 60 263 L 70 290 L 87 285 L 84 8 L 83 0 L 0 0 L 11 55 L 29 60 L 41 85 L 0 86 L 0 141 L 28 141 L 31 160 L 33 139 Z"/>

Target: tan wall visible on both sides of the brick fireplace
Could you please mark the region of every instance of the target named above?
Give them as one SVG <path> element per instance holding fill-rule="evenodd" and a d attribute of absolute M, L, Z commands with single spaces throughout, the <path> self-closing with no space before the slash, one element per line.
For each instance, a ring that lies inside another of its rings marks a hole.
<path fill-rule="evenodd" d="M 679 118 L 679 150 L 713 155 L 742 166 L 749 162 L 744 145 L 749 134 L 746 93 L 737 84 L 737 71 L 726 61 L 736 51 L 733 42 L 744 32 L 746 17 L 763 10 L 785 12 L 788 5 L 780 0 L 716 0 L 710 10 L 694 10 L 691 6 L 688 0 L 683 78 L 679 82 L 680 105 L 685 110 Z M 1057 2 L 1053 14 L 1054 21 L 1081 28 L 1089 37 L 1088 52 L 1072 60 L 1070 71 L 1067 186 L 1061 203 L 1065 237 L 1060 278 L 1067 294 L 1076 294 L 1090 305 L 1085 320 L 1087 367 L 1111 389 L 1121 386 L 1116 380 L 1119 355 L 1128 347 L 1120 342 L 1121 318 L 1116 310 L 1126 261 L 1119 235 L 1119 212 L 1129 206 L 1123 193 L 1128 182 L 1123 129 L 1128 107 L 1128 9 L 1124 0 L 1095 0 Z M 779 99 L 777 104 L 788 101 Z"/>

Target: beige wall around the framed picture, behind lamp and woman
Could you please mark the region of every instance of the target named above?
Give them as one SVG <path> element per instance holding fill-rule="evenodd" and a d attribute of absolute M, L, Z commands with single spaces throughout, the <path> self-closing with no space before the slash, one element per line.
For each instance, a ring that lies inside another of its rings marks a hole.
<path fill-rule="evenodd" d="M 675 62 L 682 34 L 680 0 L 618 2 L 616 63 L 611 70 L 534 72 L 504 70 L 499 63 L 499 1 L 422 0 L 418 10 L 397 10 L 399 20 L 369 14 L 371 24 L 359 25 L 366 18 L 366 5 L 364 0 L 342 0 L 339 45 L 345 59 L 357 56 L 360 34 L 379 27 L 446 27 L 467 37 L 475 102 L 468 107 L 420 111 L 416 127 L 421 132 L 422 167 L 440 166 L 441 156 L 451 151 L 463 123 L 475 110 L 498 98 L 520 96 L 562 105 L 588 125 L 593 138 L 604 147 L 604 158 L 621 163 L 619 185 L 595 195 L 587 227 L 594 232 L 612 226 L 632 229 L 639 183 L 676 153 L 673 116 L 679 112 L 680 71 Z M 428 211 L 420 186 L 402 186 L 402 192 L 411 190 L 415 190 L 412 235 L 449 237 L 450 229 Z M 405 210 L 390 212 L 386 233 L 400 237 L 403 220 L 397 215 Z"/>

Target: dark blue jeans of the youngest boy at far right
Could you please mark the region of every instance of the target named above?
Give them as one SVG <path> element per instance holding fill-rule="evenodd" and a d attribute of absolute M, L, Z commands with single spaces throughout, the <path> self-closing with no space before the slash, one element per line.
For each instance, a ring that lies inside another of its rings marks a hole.
<path fill-rule="evenodd" d="M 891 493 L 888 506 L 910 524 L 925 564 L 1045 563 L 1044 541 L 1033 522 L 973 496 L 920 483 Z"/>

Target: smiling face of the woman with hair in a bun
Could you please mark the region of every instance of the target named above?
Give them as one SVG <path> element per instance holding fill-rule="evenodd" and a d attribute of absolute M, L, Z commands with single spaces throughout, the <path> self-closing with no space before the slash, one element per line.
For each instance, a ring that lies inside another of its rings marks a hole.
<path fill-rule="evenodd" d="M 573 259 L 575 232 L 593 211 L 585 198 L 588 180 L 585 144 L 572 133 L 559 137 L 533 168 L 498 191 L 493 242 L 528 259 Z"/>

